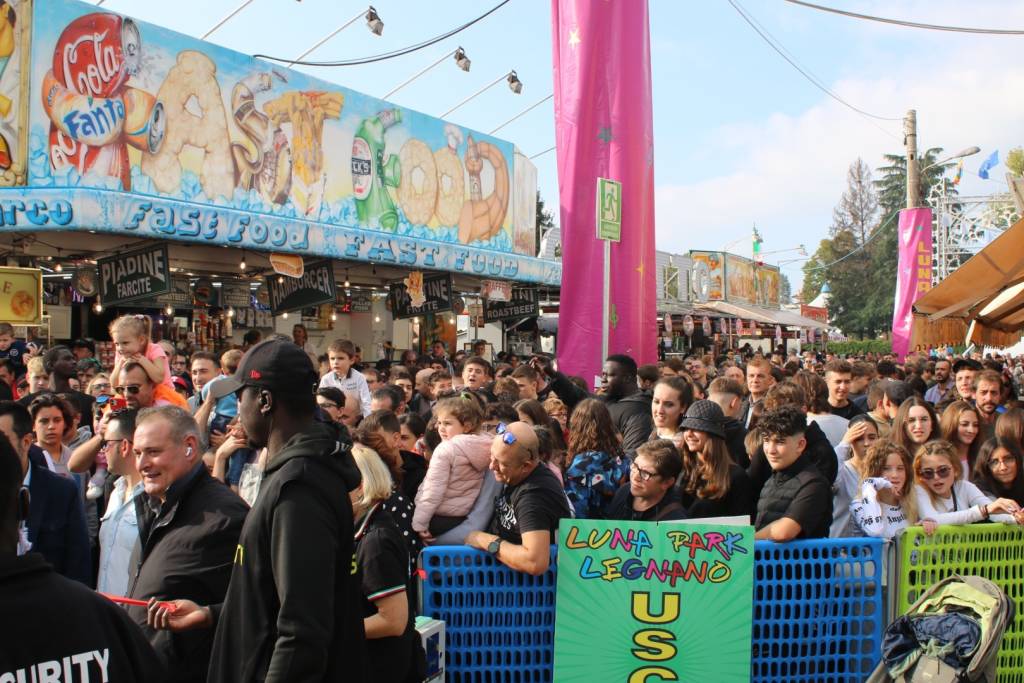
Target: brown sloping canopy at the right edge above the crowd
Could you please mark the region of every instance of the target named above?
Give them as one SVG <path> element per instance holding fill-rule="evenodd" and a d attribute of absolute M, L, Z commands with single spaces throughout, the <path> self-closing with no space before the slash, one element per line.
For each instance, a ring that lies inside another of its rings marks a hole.
<path fill-rule="evenodd" d="M 1011 346 L 1024 329 L 1024 219 L 913 304 L 911 347 Z"/>

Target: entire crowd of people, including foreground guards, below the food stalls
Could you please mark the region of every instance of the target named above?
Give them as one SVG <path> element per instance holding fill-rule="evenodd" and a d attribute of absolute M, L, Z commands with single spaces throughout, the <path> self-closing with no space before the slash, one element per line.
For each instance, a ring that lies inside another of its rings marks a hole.
<path fill-rule="evenodd" d="M 219 356 L 150 335 L 118 318 L 106 373 L 0 325 L 0 680 L 422 681 L 420 551 L 542 574 L 567 517 L 1024 523 L 999 357 L 614 354 L 592 392 L 482 344 L 370 365 L 301 326 Z"/>

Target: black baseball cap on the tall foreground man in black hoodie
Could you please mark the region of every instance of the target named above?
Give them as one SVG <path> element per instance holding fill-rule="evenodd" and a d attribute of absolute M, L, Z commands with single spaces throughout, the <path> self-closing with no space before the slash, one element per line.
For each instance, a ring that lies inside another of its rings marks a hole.
<path fill-rule="evenodd" d="M 301 394 L 316 391 L 319 375 L 313 361 L 290 341 L 267 339 L 249 349 L 234 375 L 210 387 L 214 398 L 254 386 L 271 392 Z"/>

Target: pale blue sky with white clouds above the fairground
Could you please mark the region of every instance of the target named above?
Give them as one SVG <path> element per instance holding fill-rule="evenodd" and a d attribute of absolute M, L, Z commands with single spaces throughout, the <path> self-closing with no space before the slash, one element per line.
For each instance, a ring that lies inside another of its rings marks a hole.
<path fill-rule="evenodd" d="M 625 0 L 623 0 L 625 1 Z M 630 0 L 640 2 L 641 0 Z M 757 225 L 770 263 L 801 281 L 796 249 L 813 253 L 827 237 L 831 211 L 858 157 L 872 169 L 884 154 L 902 154 L 900 119 L 918 112 L 919 147 L 967 160 L 961 194 L 1006 191 L 1006 168 L 976 175 L 982 159 L 1022 144 L 1024 60 L 1021 37 L 970 35 L 886 26 L 842 17 L 783 0 L 735 0 L 850 111 L 801 76 L 748 26 L 726 0 L 650 0 L 654 92 L 657 248 L 675 253 L 730 248 L 749 254 Z M 202 36 L 242 0 L 106 0 L 103 7 Z M 307 59 L 349 59 L 419 43 L 472 19 L 498 0 L 374 0 L 384 20 L 374 36 L 359 19 Z M 819 4 L 922 23 L 1024 29 L 1024 3 L 1009 0 L 821 0 Z M 247 53 L 294 58 L 366 11 L 350 0 L 252 0 L 209 40 Z M 457 36 L 393 59 L 345 68 L 305 68 L 311 75 L 378 97 L 462 46 L 463 73 L 451 58 L 389 99 L 440 116 L 515 70 L 445 118 L 490 132 L 552 92 L 550 0 L 510 0 Z M 1018 49 L 1015 49 L 1018 48 Z M 555 143 L 548 100 L 496 133 L 527 156 Z M 542 197 L 557 210 L 555 154 L 534 159 Z M 557 211 L 556 211 L 557 216 Z M 557 220 L 557 217 L 556 217 Z M 780 252 L 772 254 L 771 252 Z"/>

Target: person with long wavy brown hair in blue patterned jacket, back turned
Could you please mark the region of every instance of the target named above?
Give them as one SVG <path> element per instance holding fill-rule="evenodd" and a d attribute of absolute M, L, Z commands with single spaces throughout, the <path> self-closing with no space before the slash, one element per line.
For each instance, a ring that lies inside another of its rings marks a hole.
<path fill-rule="evenodd" d="M 585 398 L 569 419 L 565 456 L 565 494 L 575 516 L 604 519 L 611 498 L 628 477 L 629 463 L 608 409 L 603 401 Z"/>

